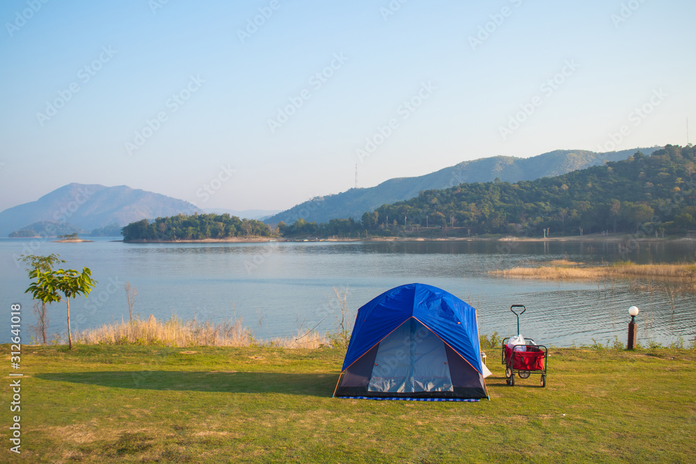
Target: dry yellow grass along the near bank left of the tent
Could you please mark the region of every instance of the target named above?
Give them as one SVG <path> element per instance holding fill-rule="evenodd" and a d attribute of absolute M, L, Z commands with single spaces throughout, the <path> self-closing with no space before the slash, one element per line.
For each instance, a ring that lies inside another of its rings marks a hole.
<path fill-rule="evenodd" d="M 83 344 L 163 344 L 167 346 L 282 346 L 284 348 L 319 348 L 329 345 L 326 337 L 311 332 L 298 337 L 274 338 L 259 342 L 253 338 L 242 319 L 221 323 L 209 321 L 182 321 L 173 317 L 168 321 L 156 319 L 106 324 L 100 328 L 83 330 L 77 334 Z"/>

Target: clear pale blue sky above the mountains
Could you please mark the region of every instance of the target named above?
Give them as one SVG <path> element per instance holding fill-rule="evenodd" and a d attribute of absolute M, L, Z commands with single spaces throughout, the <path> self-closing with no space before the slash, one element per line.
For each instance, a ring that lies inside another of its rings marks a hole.
<path fill-rule="evenodd" d="M 6 0 L 0 210 L 69 182 L 286 209 L 351 188 L 356 163 L 367 187 L 683 145 L 695 18 L 687 0 Z"/>

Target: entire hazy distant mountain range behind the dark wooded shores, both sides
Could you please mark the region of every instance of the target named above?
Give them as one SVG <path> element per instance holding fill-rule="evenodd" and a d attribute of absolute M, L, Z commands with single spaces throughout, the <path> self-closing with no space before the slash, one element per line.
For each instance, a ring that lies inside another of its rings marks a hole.
<path fill-rule="evenodd" d="M 447 189 L 463 183 L 490 182 L 496 178 L 505 182 L 517 182 L 562 175 L 607 161 L 620 161 L 637 151 L 649 155 L 660 148 L 635 148 L 607 153 L 555 150 L 531 158 L 481 158 L 463 161 L 456 166 L 419 177 L 399 177 L 366 189 L 350 189 L 343 193 L 313 198 L 281 212 L 231 209 L 211 209 L 208 212 L 258 218 L 271 225 L 280 221 L 292 224 L 299 218 L 317 223 L 334 218 L 352 217 L 359 220 L 365 211 L 409 200 L 418 196 L 420 191 Z M 132 189 L 125 185 L 106 187 L 72 183 L 47 193 L 36 201 L 0 212 L 0 237 L 7 237 L 15 231 L 20 232 L 17 234 L 19 237 L 30 237 L 42 233 L 42 230 L 52 230 L 54 233 L 51 235 L 55 235 L 104 227 L 106 229 L 98 234 L 113 234 L 113 230 L 143 218 L 195 212 L 200 214 L 204 211 L 189 202 L 159 193 Z"/>

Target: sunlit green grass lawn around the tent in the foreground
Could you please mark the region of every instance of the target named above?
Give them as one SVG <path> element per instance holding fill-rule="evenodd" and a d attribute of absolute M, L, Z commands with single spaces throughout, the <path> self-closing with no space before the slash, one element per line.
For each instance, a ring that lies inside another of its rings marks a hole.
<path fill-rule="evenodd" d="M 3 345 L 9 353 L 8 345 Z M 22 454 L 3 462 L 696 462 L 696 350 L 551 349 L 491 401 L 332 399 L 333 349 L 22 347 Z M 6 355 L 9 365 L 9 354 Z"/>

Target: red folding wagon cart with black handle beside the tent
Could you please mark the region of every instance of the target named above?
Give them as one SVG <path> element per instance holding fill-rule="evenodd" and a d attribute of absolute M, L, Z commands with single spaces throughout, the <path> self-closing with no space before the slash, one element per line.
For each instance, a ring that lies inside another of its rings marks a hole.
<path fill-rule="evenodd" d="M 515 312 L 516 307 L 522 311 Z M 517 317 L 517 334 L 520 333 L 520 316 L 527 310 L 524 305 L 512 305 L 510 311 Z M 508 343 L 513 337 L 503 339 L 502 359 L 505 365 L 506 383 L 515 386 L 515 374 L 519 378 L 529 378 L 531 374 L 541 374 L 541 387 L 546 387 L 546 358 L 548 350 L 544 345 L 537 345 L 534 340 L 524 339 L 523 343 Z"/>

